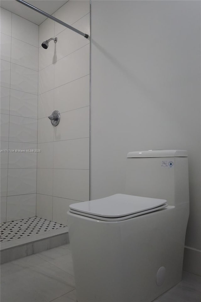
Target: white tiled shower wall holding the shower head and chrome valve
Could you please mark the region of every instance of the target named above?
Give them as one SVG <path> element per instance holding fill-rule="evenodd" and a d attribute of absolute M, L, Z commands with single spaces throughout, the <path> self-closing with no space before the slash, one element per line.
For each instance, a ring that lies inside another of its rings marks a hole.
<path fill-rule="evenodd" d="M 90 34 L 90 2 L 68 1 L 56 18 Z M 41 43 L 57 37 L 47 49 Z M 50 19 L 39 25 L 36 215 L 62 224 L 69 204 L 89 200 L 90 40 Z M 52 126 L 48 115 L 61 113 Z"/>

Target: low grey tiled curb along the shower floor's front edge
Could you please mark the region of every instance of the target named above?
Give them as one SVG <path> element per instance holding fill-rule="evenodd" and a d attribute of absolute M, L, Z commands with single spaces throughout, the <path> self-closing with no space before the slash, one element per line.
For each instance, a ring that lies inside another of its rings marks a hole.
<path fill-rule="evenodd" d="M 1 264 L 69 243 L 68 226 L 0 245 Z"/>

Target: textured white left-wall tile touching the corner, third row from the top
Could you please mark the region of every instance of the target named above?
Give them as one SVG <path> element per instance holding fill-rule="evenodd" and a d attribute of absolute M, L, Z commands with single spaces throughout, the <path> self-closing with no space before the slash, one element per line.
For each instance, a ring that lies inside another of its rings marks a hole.
<path fill-rule="evenodd" d="M 10 88 L 38 94 L 38 72 L 11 63 Z"/>

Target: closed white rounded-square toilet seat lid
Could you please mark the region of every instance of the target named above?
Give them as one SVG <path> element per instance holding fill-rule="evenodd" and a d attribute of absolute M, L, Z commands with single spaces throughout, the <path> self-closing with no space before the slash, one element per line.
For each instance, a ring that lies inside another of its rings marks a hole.
<path fill-rule="evenodd" d="M 76 211 L 79 215 L 95 215 L 99 217 L 117 218 L 157 210 L 166 205 L 165 199 L 155 199 L 126 194 L 115 194 L 101 199 L 79 202 L 69 206 L 70 212 Z M 75 213 L 75 212 L 74 212 Z"/>

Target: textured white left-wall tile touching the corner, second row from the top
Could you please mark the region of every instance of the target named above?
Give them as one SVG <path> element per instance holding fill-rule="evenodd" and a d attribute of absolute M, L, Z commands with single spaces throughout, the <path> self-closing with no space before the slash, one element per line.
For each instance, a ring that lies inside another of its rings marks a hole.
<path fill-rule="evenodd" d="M 30 69 L 38 70 L 38 48 L 12 38 L 11 62 Z"/>

